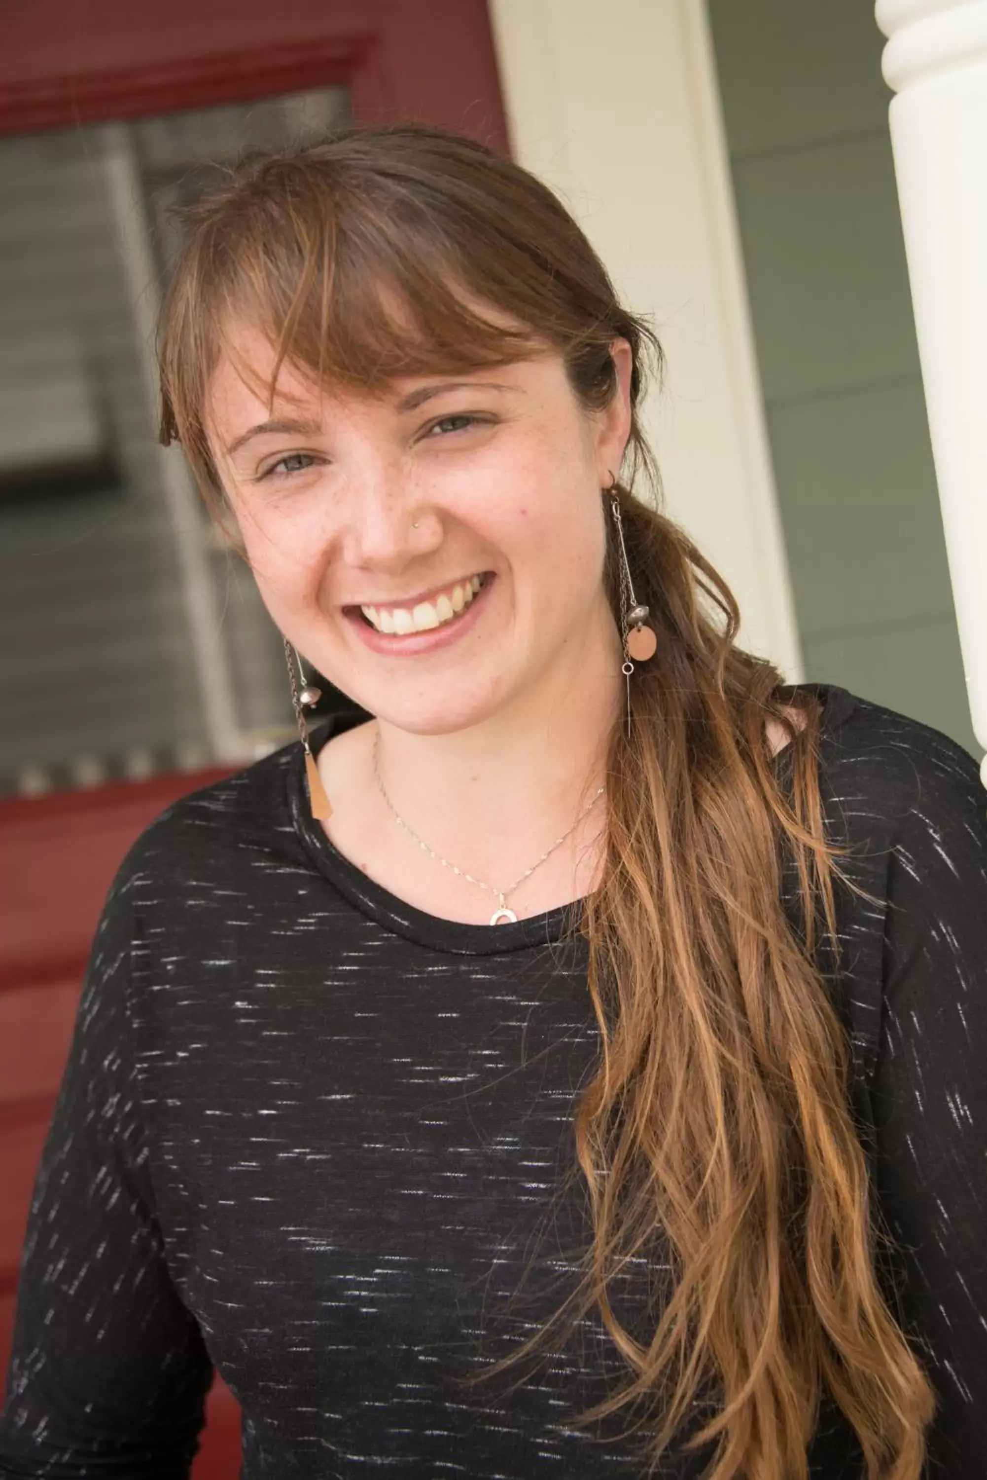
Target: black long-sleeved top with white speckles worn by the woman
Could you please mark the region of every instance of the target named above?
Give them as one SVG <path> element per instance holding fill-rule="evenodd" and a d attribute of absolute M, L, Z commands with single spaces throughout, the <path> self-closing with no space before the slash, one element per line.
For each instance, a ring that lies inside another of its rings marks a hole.
<path fill-rule="evenodd" d="M 832 980 L 891 1295 L 941 1400 L 928 1474 L 980 1480 L 987 798 L 951 740 L 812 687 L 830 836 L 882 901 L 841 891 Z M 297 746 L 154 823 L 107 903 L 38 1175 L 0 1477 L 186 1476 L 213 1366 L 246 1480 L 642 1476 L 619 1427 L 573 1422 L 620 1372 L 593 1319 L 521 1384 L 465 1381 L 586 1245 L 571 1119 L 596 1037 L 565 913 L 404 904 L 311 820 Z M 863 1476 L 829 1402 L 809 1459 Z"/>

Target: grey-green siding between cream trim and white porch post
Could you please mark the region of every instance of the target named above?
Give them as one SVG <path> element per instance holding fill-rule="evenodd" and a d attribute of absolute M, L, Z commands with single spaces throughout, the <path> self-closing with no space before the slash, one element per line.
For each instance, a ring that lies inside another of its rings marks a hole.
<path fill-rule="evenodd" d="M 709 0 L 808 678 L 969 721 L 864 0 Z"/>

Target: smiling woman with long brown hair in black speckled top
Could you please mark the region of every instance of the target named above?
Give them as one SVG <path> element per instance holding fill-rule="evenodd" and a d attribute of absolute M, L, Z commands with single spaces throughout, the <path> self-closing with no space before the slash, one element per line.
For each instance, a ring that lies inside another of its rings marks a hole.
<path fill-rule="evenodd" d="M 163 437 L 354 702 L 96 940 L 3 1476 L 981 1473 L 974 761 L 783 687 L 632 497 L 650 336 L 476 144 L 189 210 Z"/>

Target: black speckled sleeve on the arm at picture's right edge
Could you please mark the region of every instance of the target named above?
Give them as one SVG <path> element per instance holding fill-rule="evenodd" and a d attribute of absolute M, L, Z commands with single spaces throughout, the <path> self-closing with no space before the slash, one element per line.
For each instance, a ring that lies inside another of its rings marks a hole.
<path fill-rule="evenodd" d="M 937 1390 L 929 1480 L 987 1449 L 987 795 L 937 737 L 894 823 L 873 1082 L 900 1317 Z"/>

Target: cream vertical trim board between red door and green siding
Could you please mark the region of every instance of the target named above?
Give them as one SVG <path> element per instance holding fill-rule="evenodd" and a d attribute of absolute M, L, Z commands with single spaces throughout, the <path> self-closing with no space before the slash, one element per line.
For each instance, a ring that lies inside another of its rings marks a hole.
<path fill-rule="evenodd" d="M 741 642 L 802 678 L 706 0 L 490 0 L 515 158 L 574 212 L 666 386 L 667 514 L 732 588 Z"/>

